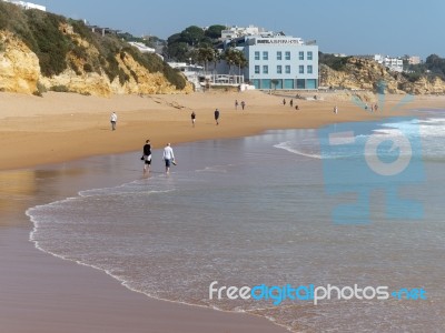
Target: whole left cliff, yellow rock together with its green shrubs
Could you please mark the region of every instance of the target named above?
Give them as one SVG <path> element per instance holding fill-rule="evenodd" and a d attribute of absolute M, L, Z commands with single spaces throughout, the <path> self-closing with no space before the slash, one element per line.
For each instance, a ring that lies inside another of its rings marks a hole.
<path fill-rule="evenodd" d="M 0 1 L 0 91 L 109 95 L 188 93 L 192 85 L 155 54 L 83 22 Z"/>

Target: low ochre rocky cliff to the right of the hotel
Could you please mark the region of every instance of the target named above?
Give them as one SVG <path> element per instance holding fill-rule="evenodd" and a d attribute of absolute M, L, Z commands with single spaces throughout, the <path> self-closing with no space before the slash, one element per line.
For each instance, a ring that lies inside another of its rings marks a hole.
<path fill-rule="evenodd" d="M 373 90 L 385 82 L 386 92 L 411 94 L 443 94 L 445 82 L 439 78 L 421 77 L 412 82 L 402 73 L 389 72 L 375 61 L 349 58 L 343 70 L 335 71 L 320 64 L 320 85 L 336 89 Z"/>

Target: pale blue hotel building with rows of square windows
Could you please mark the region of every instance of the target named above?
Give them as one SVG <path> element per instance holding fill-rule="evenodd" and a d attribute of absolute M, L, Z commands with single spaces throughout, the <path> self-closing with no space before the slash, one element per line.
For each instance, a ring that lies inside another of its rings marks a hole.
<path fill-rule="evenodd" d="M 318 89 L 318 46 L 284 33 L 245 36 L 225 41 L 244 52 L 246 81 L 256 89 Z"/>

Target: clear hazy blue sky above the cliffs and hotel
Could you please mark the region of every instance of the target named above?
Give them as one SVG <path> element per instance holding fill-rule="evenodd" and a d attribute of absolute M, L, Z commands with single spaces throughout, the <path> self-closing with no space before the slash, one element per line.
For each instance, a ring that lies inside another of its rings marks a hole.
<path fill-rule="evenodd" d="M 189 26 L 258 26 L 322 52 L 445 57 L 443 0 L 28 0 L 50 12 L 162 39 Z"/>

